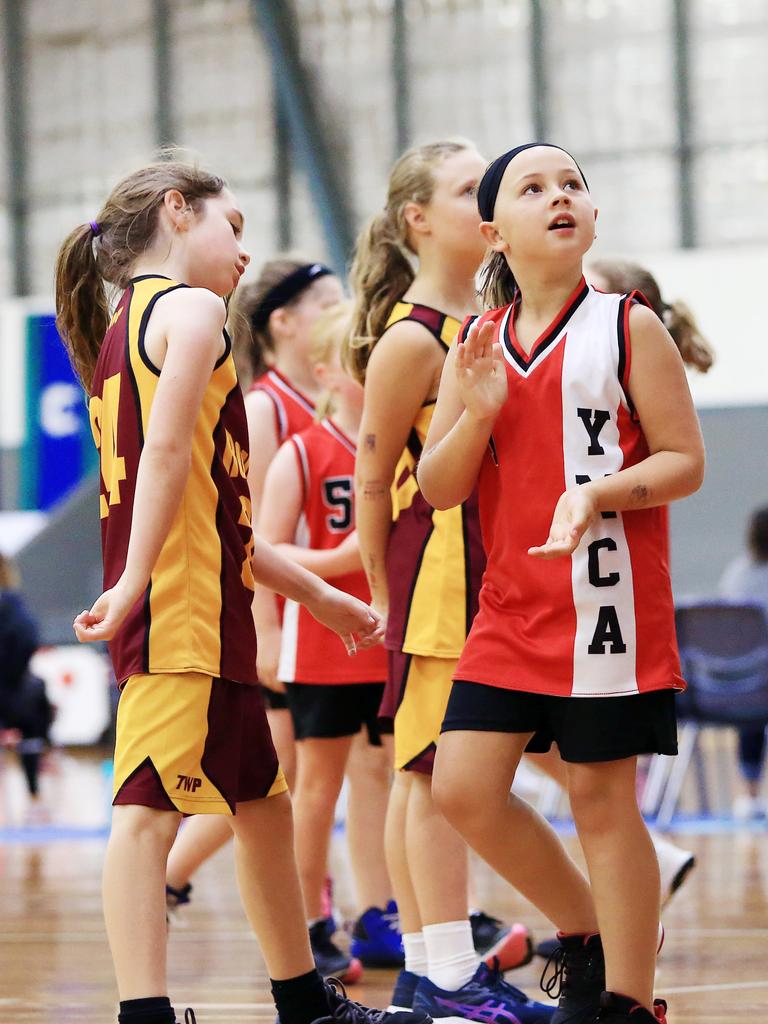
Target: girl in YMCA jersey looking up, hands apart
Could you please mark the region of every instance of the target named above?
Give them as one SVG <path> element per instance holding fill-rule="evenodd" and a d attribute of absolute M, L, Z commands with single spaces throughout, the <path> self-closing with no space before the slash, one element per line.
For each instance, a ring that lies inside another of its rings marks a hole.
<path fill-rule="evenodd" d="M 676 753 L 663 506 L 699 486 L 700 431 L 657 317 L 584 281 L 597 211 L 573 159 L 512 150 L 489 165 L 478 206 L 494 308 L 465 323 L 447 357 L 419 470 L 437 508 L 478 484 L 487 554 L 435 799 L 560 929 L 555 1024 L 665 1020 L 652 991 L 658 865 L 635 773 L 638 755 Z M 509 796 L 523 751 L 553 740 L 591 888 Z"/>

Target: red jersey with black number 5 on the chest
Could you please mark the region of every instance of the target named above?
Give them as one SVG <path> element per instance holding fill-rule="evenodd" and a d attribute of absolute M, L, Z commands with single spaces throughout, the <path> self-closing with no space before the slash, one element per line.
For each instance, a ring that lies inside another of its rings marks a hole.
<path fill-rule="evenodd" d="M 298 534 L 308 548 L 336 548 L 354 530 L 356 445 L 328 419 L 295 434 L 288 443 L 296 454 L 304 487 Z M 335 577 L 331 583 L 366 603 L 371 601 L 362 569 Z M 370 647 L 350 657 L 332 630 L 303 605 L 286 601 L 279 679 L 285 683 L 382 683 L 386 677 L 384 647 Z"/>

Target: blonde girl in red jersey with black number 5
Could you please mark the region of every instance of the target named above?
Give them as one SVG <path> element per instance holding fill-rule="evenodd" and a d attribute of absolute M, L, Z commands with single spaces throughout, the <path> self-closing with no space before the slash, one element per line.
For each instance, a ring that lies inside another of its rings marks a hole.
<path fill-rule="evenodd" d="M 264 481 L 259 535 L 305 568 L 350 594 L 370 591 L 354 527 L 354 456 L 362 388 L 341 369 L 339 350 L 349 333 L 351 306 L 327 311 L 312 330 L 309 357 L 326 388 L 318 417 L 290 437 Z M 323 415 L 326 412 L 326 415 Z M 322 974 L 359 977 L 360 962 L 333 942 L 334 923 L 324 907 L 324 885 L 334 809 L 346 771 L 349 782 L 349 855 L 365 939 L 352 953 L 367 963 L 399 966 L 402 947 L 387 918 L 391 888 L 384 862 L 384 816 L 389 757 L 377 715 L 386 678 L 386 652 L 346 656 L 327 630 L 315 629 L 295 602 L 286 604 L 278 678 L 286 685 L 297 746 L 294 790 L 296 851 L 309 937 Z M 353 767 L 350 766 L 350 756 Z M 374 934 L 376 933 L 376 934 Z"/>

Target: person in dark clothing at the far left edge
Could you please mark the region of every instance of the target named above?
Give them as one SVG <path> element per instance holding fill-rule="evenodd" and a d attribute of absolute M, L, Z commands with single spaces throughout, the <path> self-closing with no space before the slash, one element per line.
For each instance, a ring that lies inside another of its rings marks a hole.
<path fill-rule="evenodd" d="M 18 593 L 18 573 L 0 554 L 0 737 L 18 753 L 32 797 L 53 717 L 45 684 L 29 670 L 37 648 L 37 625 Z"/>

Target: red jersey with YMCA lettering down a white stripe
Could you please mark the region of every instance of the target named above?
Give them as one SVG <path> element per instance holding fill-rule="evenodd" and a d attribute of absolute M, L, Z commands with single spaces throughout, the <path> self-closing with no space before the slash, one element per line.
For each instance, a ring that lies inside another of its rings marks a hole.
<path fill-rule="evenodd" d="M 527 554 L 563 490 L 648 456 L 627 389 L 635 301 L 582 279 L 527 355 L 514 304 L 481 317 L 497 326 L 509 397 L 480 469 L 487 566 L 456 679 L 584 697 L 684 686 L 666 508 L 602 513 L 570 558 Z"/>

